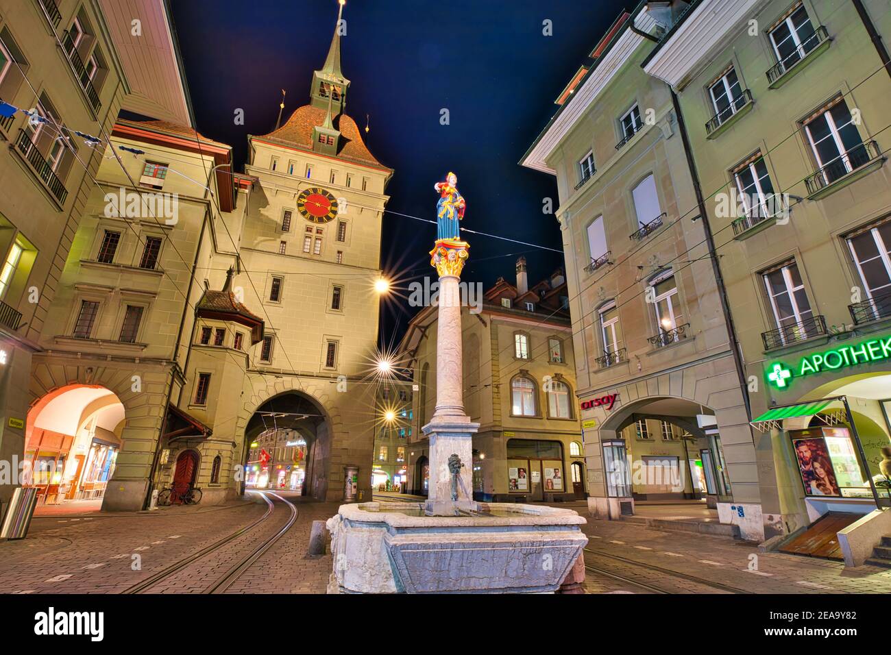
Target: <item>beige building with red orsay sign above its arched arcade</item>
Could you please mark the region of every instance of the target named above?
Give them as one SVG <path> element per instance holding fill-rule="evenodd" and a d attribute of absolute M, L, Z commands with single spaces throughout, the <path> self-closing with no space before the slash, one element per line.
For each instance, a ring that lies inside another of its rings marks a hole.
<path fill-rule="evenodd" d="M 641 68 L 663 29 L 644 4 L 623 12 L 520 161 L 557 182 L 588 505 L 609 518 L 654 499 L 760 502 L 684 126 Z"/>

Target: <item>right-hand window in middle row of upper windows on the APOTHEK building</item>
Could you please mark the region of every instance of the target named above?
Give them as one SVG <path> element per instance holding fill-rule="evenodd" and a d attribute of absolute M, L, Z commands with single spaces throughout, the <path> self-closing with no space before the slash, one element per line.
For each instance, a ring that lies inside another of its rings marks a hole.
<path fill-rule="evenodd" d="M 807 119 L 805 132 L 826 184 L 870 160 L 844 99 Z"/>

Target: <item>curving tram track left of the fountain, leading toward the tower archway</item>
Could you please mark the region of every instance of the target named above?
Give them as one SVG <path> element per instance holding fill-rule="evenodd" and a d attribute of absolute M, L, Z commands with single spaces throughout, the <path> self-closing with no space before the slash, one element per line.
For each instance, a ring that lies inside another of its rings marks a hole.
<path fill-rule="evenodd" d="M 257 526 L 264 523 L 266 520 L 269 519 L 270 516 L 273 515 L 275 504 L 268 497 L 268 495 L 273 495 L 274 497 L 278 498 L 283 504 L 288 505 L 290 508 L 290 517 L 288 518 L 288 520 L 285 521 L 284 526 L 278 529 L 272 536 L 268 536 L 263 539 L 260 544 L 250 550 L 250 553 L 248 553 L 244 557 L 241 557 L 237 564 L 227 569 L 223 576 L 218 577 L 216 582 L 214 582 L 212 585 L 209 585 L 200 592 L 201 594 L 225 593 L 225 590 L 233 585 L 233 583 L 239 577 L 241 577 L 241 575 L 243 575 L 244 572 L 249 569 L 255 561 L 257 561 L 257 559 L 259 559 L 264 553 L 266 553 L 266 551 L 269 550 L 269 548 L 272 547 L 272 545 L 276 541 L 278 541 L 278 539 L 284 536 L 284 534 L 291 528 L 291 526 L 294 525 L 294 522 L 297 520 L 297 507 L 294 504 L 290 503 L 289 500 L 273 492 L 257 491 L 255 493 L 260 494 L 266 501 L 267 507 L 266 512 L 263 514 L 263 516 L 253 521 L 249 525 L 235 530 L 232 534 L 224 536 L 222 539 L 217 540 L 213 544 L 209 544 L 208 546 L 201 548 L 199 551 L 191 553 L 181 560 L 174 562 L 165 569 L 159 570 L 157 573 L 152 574 L 150 577 L 141 580 L 135 585 L 127 587 L 127 589 L 121 592 L 121 594 L 151 594 L 151 587 L 159 585 L 159 583 L 168 580 L 169 577 L 176 575 L 176 573 L 185 569 L 192 563 L 200 561 L 202 558 L 208 556 L 211 553 L 217 552 L 226 544 L 232 543 L 238 537 L 249 533 L 254 528 L 257 528 Z"/>

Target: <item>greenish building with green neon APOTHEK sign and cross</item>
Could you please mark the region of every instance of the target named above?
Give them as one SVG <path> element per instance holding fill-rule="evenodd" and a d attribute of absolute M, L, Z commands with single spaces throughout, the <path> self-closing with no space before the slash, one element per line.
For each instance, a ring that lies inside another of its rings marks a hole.
<path fill-rule="evenodd" d="M 678 97 L 705 195 L 764 534 L 832 512 L 853 522 L 889 484 L 891 13 L 879 0 L 648 4 L 665 34 L 643 70 Z"/>

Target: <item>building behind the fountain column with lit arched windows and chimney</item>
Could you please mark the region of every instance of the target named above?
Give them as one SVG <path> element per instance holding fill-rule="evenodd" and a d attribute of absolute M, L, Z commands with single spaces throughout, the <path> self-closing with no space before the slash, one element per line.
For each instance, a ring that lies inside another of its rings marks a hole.
<path fill-rule="evenodd" d="M 473 282 L 462 282 L 468 288 Z M 482 291 L 482 285 L 478 286 Z M 468 293 L 470 299 L 470 292 Z M 478 422 L 473 435 L 473 496 L 479 501 L 582 499 L 587 493 L 576 350 L 562 269 L 532 286 L 519 258 L 516 282 L 499 278 L 462 310 L 464 411 Z M 428 439 L 421 427 L 436 408 L 437 307 L 424 307 L 400 344 L 413 370 L 413 434 L 408 483 L 427 493 Z"/>

